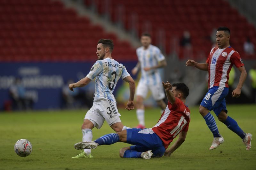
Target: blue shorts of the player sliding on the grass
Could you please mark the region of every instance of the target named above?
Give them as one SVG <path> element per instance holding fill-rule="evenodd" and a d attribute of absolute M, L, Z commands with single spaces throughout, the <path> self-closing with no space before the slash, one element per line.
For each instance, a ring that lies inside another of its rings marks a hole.
<path fill-rule="evenodd" d="M 152 150 L 152 157 L 162 157 L 165 152 L 163 141 L 152 129 L 127 129 L 127 143 L 133 144 L 131 150 L 146 152 Z"/>

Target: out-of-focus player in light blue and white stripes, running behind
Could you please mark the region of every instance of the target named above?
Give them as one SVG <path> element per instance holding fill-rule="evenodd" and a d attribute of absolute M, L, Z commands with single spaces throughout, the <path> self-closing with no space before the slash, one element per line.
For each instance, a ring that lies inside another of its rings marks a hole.
<path fill-rule="evenodd" d="M 140 42 L 141 47 L 137 48 L 136 54 L 138 56 L 138 63 L 132 69 L 132 74 L 135 75 L 139 69 L 141 70 L 141 78 L 136 90 L 136 114 L 139 121 L 137 128 L 145 128 L 144 104 L 143 101 L 151 91 L 153 98 L 157 105 L 164 110 L 166 104 L 164 103 L 164 89 L 162 86 L 162 79 L 158 68 L 167 65 L 164 55 L 160 49 L 151 45 L 151 36 L 148 33 L 143 33 Z"/>

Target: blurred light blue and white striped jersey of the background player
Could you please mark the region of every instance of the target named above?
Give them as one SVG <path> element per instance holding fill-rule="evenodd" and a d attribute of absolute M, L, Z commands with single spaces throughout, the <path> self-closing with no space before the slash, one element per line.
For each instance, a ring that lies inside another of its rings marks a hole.
<path fill-rule="evenodd" d="M 164 55 L 161 53 L 160 49 L 156 46 L 149 45 L 147 49 L 144 47 L 139 47 L 136 50 L 138 60 L 140 62 L 141 78 L 148 85 L 156 85 L 162 82 L 160 73 L 158 69 L 144 71 L 145 67 L 152 67 L 158 65 L 158 62 L 165 59 Z"/>

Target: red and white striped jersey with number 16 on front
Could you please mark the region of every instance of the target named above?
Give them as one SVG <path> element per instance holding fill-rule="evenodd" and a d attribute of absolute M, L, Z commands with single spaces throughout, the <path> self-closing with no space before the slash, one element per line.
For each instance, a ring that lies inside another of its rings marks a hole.
<path fill-rule="evenodd" d="M 206 63 L 208 63 L 208 88 L 213 86 L 228 87 L 229 72 L 235 64 L 244 66 L 240 55 L 232 47 L 219 49 L 212 48 Z"/>

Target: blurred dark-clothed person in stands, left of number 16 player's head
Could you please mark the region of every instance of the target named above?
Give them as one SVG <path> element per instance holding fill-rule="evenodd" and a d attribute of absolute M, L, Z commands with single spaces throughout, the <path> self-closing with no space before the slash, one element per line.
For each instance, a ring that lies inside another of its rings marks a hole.
<path fill-rule="evenodd" d="M 192 57 L 192 47 L 191 47 L 190 33 L 188 31 L 183 32 L 183 37 L 181 38 L 180 46 L 183 47 L 184 58 L 191 58 Z"/>

